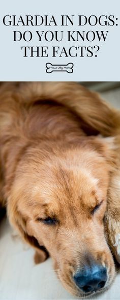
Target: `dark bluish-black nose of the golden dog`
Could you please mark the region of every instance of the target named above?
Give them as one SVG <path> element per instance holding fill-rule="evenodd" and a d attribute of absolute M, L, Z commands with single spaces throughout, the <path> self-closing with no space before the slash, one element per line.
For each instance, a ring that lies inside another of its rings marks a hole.
<path fill-rule="evenodd" d="M 104 287 L 107 280 L 107 271 L 103 266 L 94 265 L 91 268 L 85 267 L 73 278 L 76 285 L 85 293 L 93 292 Z"/>

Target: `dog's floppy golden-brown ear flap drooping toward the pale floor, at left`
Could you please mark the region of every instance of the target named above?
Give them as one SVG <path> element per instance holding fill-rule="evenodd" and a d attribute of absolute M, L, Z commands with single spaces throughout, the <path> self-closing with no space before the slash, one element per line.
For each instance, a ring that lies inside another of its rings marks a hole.
<path fill-rule="evenodd" d="M 27 222 L 22 214 L 18 212 L 15 207 L 10 207 L 9 204 L 8 215 L 10 223 L 20 233 L 22 239 L 36 250 L 34 256 L 35 263 L 45 261 L 48 258 L 49 254 L 44 246 L 39 245 L 37 238 L 32 234 L 32 230 L 30 230 L 29 226 L 27 226 Z"/>

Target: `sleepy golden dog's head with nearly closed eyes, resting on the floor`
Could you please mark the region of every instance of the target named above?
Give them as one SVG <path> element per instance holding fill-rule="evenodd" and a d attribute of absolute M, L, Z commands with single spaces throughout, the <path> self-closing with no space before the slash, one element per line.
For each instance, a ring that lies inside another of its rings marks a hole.
<path fill-rule="evenodd" d="M 11 223 L 38 251 L 45 247 L 58 277 L 77 296 L 104 290 L 114 277 L 103 225 L 108 148 L 95 140 L 63 144 L 61 151 L 56 144 L 50 145 L 54 151 L 49 143 L 29 145 L 9 181 Z"/>

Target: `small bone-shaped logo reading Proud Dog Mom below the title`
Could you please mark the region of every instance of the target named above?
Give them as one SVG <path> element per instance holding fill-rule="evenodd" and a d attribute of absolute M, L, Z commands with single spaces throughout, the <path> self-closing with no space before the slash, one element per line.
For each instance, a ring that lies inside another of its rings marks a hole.
<path fill-rule="evenodd" d="M 69 63 L 67 65 L 52 65 L 51 63 L 46 64 L 46 72 L 67 72 L 73 73 L 73 63 Z"/>

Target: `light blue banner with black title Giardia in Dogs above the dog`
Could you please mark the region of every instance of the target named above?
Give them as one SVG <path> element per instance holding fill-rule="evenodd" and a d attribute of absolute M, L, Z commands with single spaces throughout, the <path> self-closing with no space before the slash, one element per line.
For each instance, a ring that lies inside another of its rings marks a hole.
<path fill-rule="evenodd" d="M 1 81 L 119 81 L 119 0 L 4 0 Z"/>

